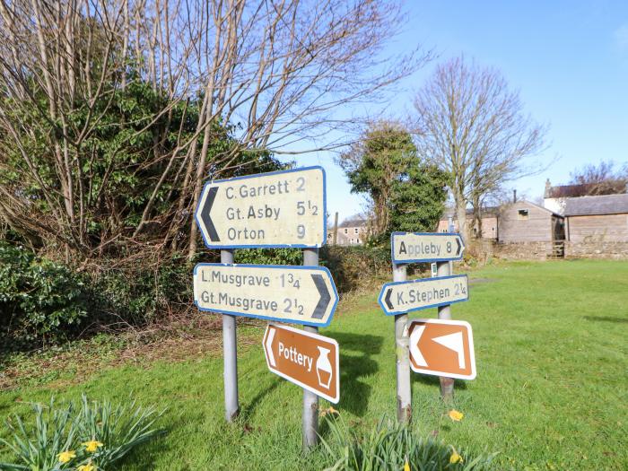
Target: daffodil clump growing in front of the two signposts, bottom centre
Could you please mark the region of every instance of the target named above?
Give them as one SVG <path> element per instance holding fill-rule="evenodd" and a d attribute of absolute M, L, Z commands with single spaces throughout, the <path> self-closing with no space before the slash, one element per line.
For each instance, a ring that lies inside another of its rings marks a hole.
<path fill-rule="evenodd" d="M 349 430 L 342 418 L 328 418 L 329 437 L 321 437 L 333 463 L 327 471 L 479 471 L 492 469 L 495 456 L 471 457 L 443 441 L 423 438 L 411 426 L 382 419 L 371 432 L 361 435 Z"/>

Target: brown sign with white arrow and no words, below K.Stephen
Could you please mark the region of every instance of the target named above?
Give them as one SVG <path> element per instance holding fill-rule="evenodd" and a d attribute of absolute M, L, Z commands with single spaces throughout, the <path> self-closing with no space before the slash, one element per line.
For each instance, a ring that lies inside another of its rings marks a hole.
<path fill-rule="evenodd" d="M 417 373 L 474 379 L 473 331 L 464 320 L 415 318 L 408 327 L 410 366 Z"/>

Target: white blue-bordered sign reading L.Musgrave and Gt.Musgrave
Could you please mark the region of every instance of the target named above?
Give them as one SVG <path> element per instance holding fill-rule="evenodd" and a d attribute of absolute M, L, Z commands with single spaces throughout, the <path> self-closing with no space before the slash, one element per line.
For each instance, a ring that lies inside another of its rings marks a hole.
<path fill-rule="evenodd" d="M 338 303 L 324 266 L 198 264 L 194 301 L 199 310 L 326 327 Z"/>

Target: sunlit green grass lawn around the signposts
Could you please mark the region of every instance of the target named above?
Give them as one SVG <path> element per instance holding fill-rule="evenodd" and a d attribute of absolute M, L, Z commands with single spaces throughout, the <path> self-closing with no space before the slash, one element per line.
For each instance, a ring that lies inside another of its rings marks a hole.
<path fill-rule="evenodd" d="M 465 417 L 459 423 L 443 417 L 448 407 L 438 379 L 413 373 L 418 430 L 474 454 L 499 451 L 500 469 L 628 468 L 628 263 L 520 262 L 470 277 L 470 301 L 452 307 L 453 318 L 474 328 L 477 378 L 456 381 L 454 407 Z M 341 303 L 321 331 L 340 345 L 336 408 L 352 427 L 370 428 L 395 414 L 393 318 L 379 310 L 378 294 Z M 435 316 L 436 310 L 414 313 Z M 235 424 L 223 420 L 222 358 L 215 352 L 125 362 L 74 384 L 4 391 L 0 418 L 50 395 L 135 397 L 168 408 L 161 426 L 169 433 L 138 449 L 123 469 L 319 469 L 322 453 L 301 452 L 301 389 L 267 371 L 262 334 L 258 327 L 240 332 L 249 342 L 240 349 L 242 413 Z"/>

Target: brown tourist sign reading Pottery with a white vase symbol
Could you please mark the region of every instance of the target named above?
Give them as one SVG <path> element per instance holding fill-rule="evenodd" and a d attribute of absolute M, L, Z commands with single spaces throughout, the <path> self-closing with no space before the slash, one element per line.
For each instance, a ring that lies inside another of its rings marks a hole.
<path fill-rule="evenodd" d="M 334 404 L 340 400 L 336 340 L 298 328 L 268 324 L 262 345 L 270 371 Z"/>

